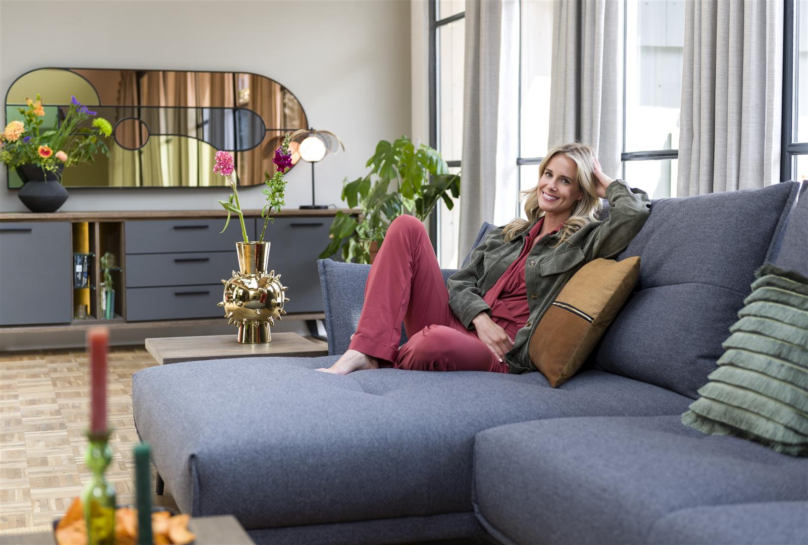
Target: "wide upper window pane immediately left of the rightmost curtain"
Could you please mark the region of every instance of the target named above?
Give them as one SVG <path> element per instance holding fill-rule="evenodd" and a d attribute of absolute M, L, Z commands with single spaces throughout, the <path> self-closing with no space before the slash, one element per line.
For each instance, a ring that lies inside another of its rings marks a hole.
<path fill-rule="evenodd" d="M 684 0 L 629 0 L 625 16 L 625 151 L 676 150 Z"/>

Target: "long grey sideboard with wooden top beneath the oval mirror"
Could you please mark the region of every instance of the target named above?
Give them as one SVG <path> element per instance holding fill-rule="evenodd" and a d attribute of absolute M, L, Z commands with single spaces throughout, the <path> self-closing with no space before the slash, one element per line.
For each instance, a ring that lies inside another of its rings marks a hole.
<path fill-rule="evenodd" d="M 347 210 L 343 210 L 347 211 Z M 337 209 L 284 210 L 267 226 L 270 265 L 288 285 L 285 319 L 322 318 L 318 254 L 328 243 Z M 258 210 L 245 213 L 250 240 L 263 227 Z M 72 329 L 166 321 L 221 319 L 221 280 L 238 269 L 238 218 L 220 233 L 218 211 L 0 213 L 0 334 L 27 328 Z M 90 309 L 99 309 L 99 256 L 116 255 L 115 318 L 90 311 L 78 319 L 73 284 L 76 225 L 86 223 Z"/>

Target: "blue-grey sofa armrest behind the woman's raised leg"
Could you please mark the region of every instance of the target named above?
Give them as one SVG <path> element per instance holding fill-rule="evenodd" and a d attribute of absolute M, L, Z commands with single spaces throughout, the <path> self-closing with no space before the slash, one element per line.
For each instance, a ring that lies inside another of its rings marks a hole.
<path fill-rule="evenodd" d="M 326 335 L 328 353 L 342 354 L 351 343 L 351 335 L 356 332 L 356 324 L 364 305 L 364 285 L 368 281 L 370 265 L 343 263 L 334 260 L 318 260 L 322 289 L 322 306 L 326 312 Z M 441 272 L 444 284 L 455 269 L 445 268 Z M 402 326 L 402 344 L 406 333 Z"/>

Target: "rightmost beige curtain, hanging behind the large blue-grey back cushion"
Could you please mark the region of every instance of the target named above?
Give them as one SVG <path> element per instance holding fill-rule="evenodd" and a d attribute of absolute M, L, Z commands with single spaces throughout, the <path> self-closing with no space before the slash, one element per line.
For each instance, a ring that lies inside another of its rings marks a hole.
<path fill-rule="evenodd" d="M 679 196 L 780 179 L 783 2 L 686 2 Z"/>

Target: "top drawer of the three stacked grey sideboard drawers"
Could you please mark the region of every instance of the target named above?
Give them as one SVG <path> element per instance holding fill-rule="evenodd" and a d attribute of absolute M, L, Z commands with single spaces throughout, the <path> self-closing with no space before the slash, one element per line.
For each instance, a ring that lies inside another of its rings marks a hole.
<path fill-rule="evenodd" d="M 255 220 L 244 220 L 247 236 L 255 240 Z M 175 251 L 233 251 L 242 242 L 238 216 L 230 218 L 224 233 L 224 219 L 133 220 L 124 224 L 127 254 Z"/>

